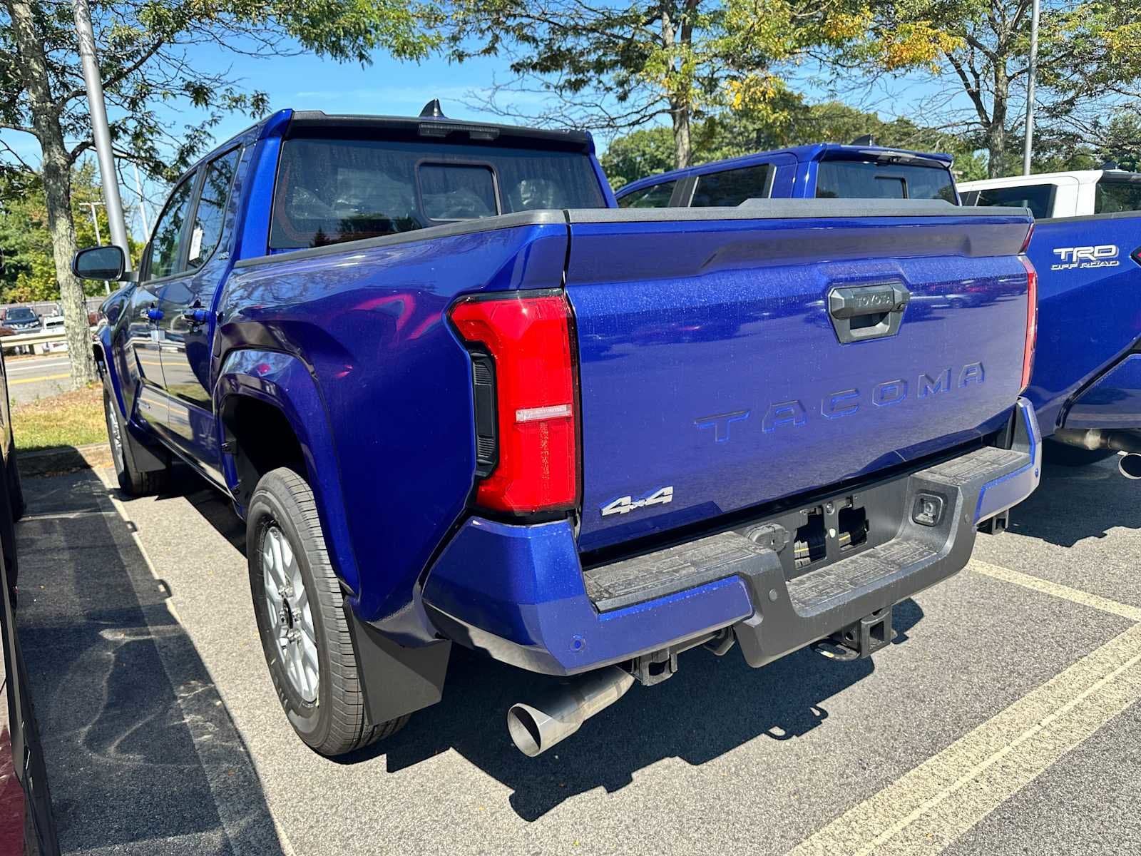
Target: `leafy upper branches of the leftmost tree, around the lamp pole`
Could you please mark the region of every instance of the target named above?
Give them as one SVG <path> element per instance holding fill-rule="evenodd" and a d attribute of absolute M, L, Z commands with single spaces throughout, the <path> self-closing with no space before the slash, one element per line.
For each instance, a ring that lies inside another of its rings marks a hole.
<path fill-rule="evenodd" d="M 80 140 L 74 162 L 91 147 L 82 73 L 70 2 L 31 2 L 48 59 L 64 137 Z M 264 115 L 264 92 L 245 91 L 225 73 L 187 62 L 189 46 L 215 46 L 274 57 L 305 49 L 340 60 L 369 63 L 373 51 L 419 59 L 439 43 L 427 32 L 429 7 L 398 0 L 144 0 L 91 2 L 112 136 L 121 154 L 153 176 L 170 180 L 211 144 L 209 130 L 232 112 Z M 0 5 L 0 127 L 32 130 L 32 105 L 17 63 L 19 49 L 7 5 Z M 187 106 L 204 114 L 171 126 L 160 108 Z"/>

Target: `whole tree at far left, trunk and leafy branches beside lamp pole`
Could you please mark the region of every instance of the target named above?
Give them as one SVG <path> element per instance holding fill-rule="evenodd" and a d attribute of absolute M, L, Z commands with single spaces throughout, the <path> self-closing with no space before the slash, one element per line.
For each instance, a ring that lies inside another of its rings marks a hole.
<path fill-rule="evenodd" d="M 226 112 L 258 115 L 268 106 L 264 94 L 244 92 L 224 73 L 189 62 L 188 46 L 283 56 L 297 50 L 289 41 L 296 39 L 302 49 L 367 63 L 377 49 L 422 57 L 438 41 L 423 29 L 435 14 L 398 0 L 129 0 L 97 2 L 90 11 L 108 112 L 116 116 L 115 146 L 168 178 L 208 145 L 204 131 Z M 75 383 L 95 379 L 83 290 L 70 269 L 76 247 L 72 175 L 92 147 L 84 96 L 71 3 L 3 0 L 0 129 L 32 135 L 40 146 L 39 170 L 5 147 L 9 168 L 39 173 Z M 156 112 L 170 102 L 207 118 L 177 138 Z"/>

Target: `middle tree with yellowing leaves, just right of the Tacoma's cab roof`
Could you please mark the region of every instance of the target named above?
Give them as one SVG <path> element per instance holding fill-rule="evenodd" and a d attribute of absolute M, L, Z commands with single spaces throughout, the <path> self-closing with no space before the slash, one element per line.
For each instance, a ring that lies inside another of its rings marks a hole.
<path fill-rule="evenodd" d="M 628 134 L 665 118 L 673 165 L 693 126 L 723 106 L 776 108 L 776 70 L 867 30 L 865 0 L 452 0 L 450 55 L 502 55 L 513 78 L 485 106 L 533 119 L 502 98 L 540 95 L 545 123 Z M 550 106 L 553 104 L 553 106 Z"/>

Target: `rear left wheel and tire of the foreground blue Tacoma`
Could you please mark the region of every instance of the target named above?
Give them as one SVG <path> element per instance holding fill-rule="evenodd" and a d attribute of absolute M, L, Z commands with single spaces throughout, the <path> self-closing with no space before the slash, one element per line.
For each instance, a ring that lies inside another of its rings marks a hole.
<path fill-rule="evenodd" d="M 284 467 L 262 476 L 245 532 L 261 647 L 298 736 L 321 754 L 339 756 L 403 728 L 407 716 L 366 719 L 343 595 L 305 479 Z"/>

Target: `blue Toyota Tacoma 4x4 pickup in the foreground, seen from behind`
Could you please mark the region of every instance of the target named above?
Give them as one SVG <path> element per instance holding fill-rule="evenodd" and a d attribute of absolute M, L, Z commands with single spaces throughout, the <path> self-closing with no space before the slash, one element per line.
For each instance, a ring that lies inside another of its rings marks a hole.
<path fill-rule="evenodd" d="M 621 209 L 583 132 L 282 111 L 176 184 L 104 305 L 119 484 L 178 458 L 232 498 L 316 751 L 439 701 L 455 643 L 565 679 L 507 712 L 537 754 L 696 646 L 866 657 L 965 565 L 1038 482 L 1029 227 Z"/>

